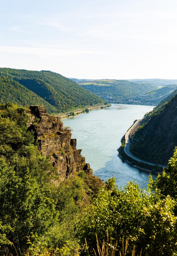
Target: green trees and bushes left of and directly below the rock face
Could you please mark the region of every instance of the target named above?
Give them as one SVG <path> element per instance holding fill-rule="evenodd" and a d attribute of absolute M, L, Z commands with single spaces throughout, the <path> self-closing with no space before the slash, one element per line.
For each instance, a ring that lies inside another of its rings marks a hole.
<path fill-rule="evenodd" d="M 45 248 L 78 247 L 74 223 L 102 182 L 85 173 L 56 182 L 49 160 L 28 131 L 25 108 L 0 105 L 0 254 L 26 250 L 27 236 L 38 235 Z"/>

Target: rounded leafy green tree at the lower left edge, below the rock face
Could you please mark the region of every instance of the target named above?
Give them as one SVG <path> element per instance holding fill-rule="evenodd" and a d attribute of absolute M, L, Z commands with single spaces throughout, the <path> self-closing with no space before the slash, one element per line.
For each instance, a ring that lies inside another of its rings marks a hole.
<path fill-rule="evenodd" d="M 0 209 L 2 225 L 10 227 L 6 237 L 17 248 L 26 247 L 26 236 L 31 232 L 44 234 L 56 215 L 50 190 L 40 187 L 28 168 L 17 175 L 3 158 L 0 159 Z"/>

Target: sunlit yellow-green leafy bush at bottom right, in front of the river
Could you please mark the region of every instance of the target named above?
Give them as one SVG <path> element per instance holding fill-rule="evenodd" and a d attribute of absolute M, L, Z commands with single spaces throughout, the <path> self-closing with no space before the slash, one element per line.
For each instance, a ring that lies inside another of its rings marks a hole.
<path fill-rule="evenodd" d="M 109 179 L 98 198 L 84 214 L 80 222 L 80 239 L 85 238 L 92 253 L 97 250 L 96 234 L 102 244 L 107 241 L 107 230 L 112 243 L 129 238 L 128 252 L 136 246 L 136 253 L 148 255 L 172 255 L 176 252 L 176 217 L 173 213 L 174 201 L 167 196 L 161 199 L 129 182 L 122 190 L 115 185 L 115 178 Z"/>

